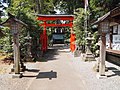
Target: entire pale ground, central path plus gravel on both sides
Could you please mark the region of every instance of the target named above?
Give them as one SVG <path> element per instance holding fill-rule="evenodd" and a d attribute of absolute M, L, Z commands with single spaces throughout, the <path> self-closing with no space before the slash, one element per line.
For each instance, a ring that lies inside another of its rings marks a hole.
<path fill-rule="evenodd" d="M 84 62 L 63 47 L 51 48 L 44 56 L 45 62 L 27 63 L 29 70 L 21 79 L 12 79 L 8 72 L 0 73 L 0 90 L 120 90 L 119 66 L 106 62 L 108 78 L 97 79 L 95 61 Z"/>

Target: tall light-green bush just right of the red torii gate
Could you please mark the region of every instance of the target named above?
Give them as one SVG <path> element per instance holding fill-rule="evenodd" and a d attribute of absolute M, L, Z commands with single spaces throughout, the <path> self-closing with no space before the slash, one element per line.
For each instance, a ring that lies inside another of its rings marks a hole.
<path fill-rule="evenodd" d="M 77 9 L 75 12 L 74 30 L 76 33 L 76 39 L 78 45 L 85 45 L 85 30 L 84 30 L 84 9 Z"/>

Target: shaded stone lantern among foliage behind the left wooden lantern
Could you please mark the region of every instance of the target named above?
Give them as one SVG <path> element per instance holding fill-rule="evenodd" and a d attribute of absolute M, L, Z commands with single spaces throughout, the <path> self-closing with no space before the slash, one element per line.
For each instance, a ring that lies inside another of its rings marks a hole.
<path fill-rule="evenodd" d="M 26 40 L 26 48 L 27 48 L 27 54 L 26 54 L 26 61 L 32 61 L 32 54 L 31 54 L 31 45 L 32 45 L 32 37 L 30 37 L 30 33 L 28 32 L 27 36 L 25 37 Z"/>

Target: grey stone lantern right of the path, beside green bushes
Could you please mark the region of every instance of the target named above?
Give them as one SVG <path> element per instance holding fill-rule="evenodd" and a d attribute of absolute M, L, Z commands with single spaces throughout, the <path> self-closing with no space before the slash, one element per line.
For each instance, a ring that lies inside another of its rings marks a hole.
<path fill-rule="evenodd" d="M 91 43 L 94 40 L 94 38 L 91 36 L 91 33 L 88 33 L 88 37 L 86 38 L 87 45 L 86 45 L 86 55 L 85 55 L 85 61 L 94 61 L 95 57 L 91 52 Z"/>

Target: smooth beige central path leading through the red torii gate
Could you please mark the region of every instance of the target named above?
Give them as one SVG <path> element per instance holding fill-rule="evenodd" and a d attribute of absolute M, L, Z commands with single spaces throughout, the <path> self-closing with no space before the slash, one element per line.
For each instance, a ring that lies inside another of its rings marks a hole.
<path fill-rule="evenodd" d="M 46 62 L 39 63 L 39 74 L 27 90 L 86 90 L 68 49 L 54 46 L 44 57 Z"/>

